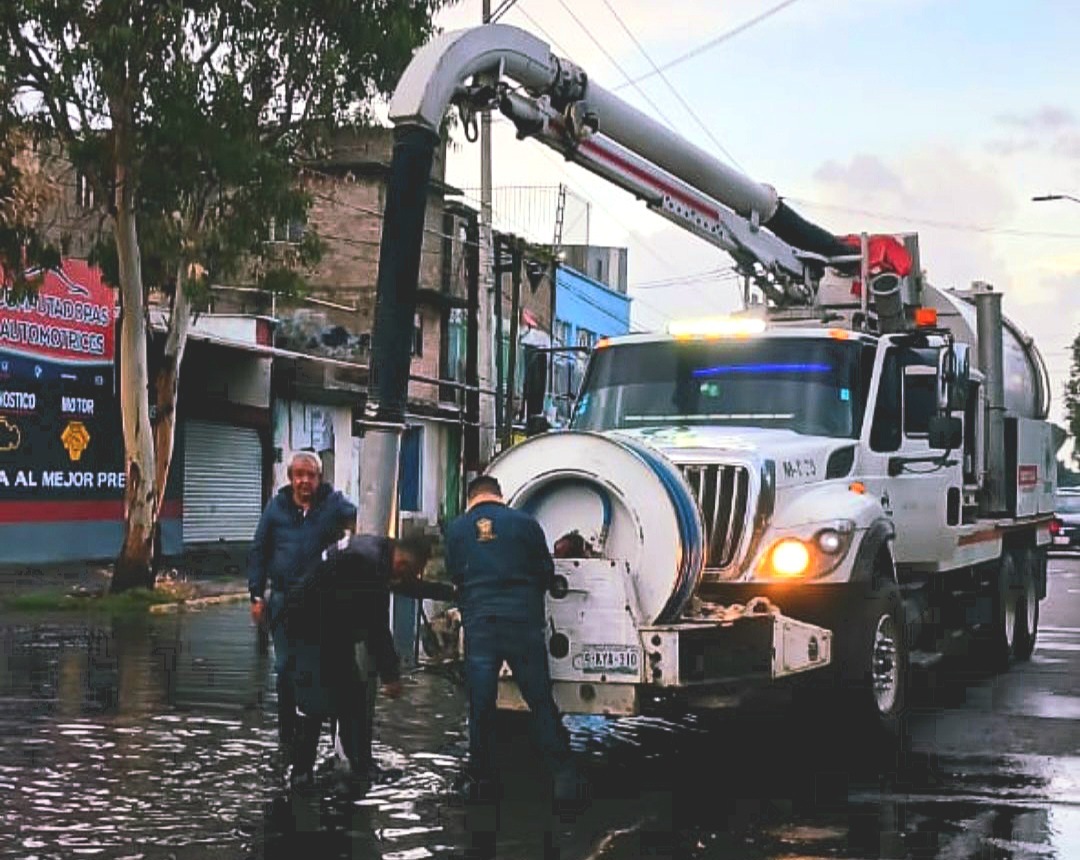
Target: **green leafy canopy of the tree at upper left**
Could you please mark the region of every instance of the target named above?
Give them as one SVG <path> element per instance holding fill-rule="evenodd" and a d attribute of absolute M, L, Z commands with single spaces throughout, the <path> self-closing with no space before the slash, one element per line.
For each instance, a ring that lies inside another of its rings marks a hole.
<path fill-rule="evenodd" d="M 285 272 L 318 260 L 318 238 L 287 258 L 266 240 L 271 223 L 307 219 L 299 166 L 329 130 L 370 121 L 445 1 L 4 0 L 0 131 L 57 140 L 105 216 L 131 179 L 148 287 L 195 298 L 254 273 L 296 293 Z M 117 283 L 100 224 L 93 258 Z M 9 266 L 55 252 L 25 226 L 2 229 Z"/>

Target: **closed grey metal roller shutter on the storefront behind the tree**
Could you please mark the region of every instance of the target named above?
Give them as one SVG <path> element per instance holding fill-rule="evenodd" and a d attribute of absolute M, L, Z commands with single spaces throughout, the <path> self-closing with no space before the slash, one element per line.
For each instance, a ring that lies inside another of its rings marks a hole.
<path fill-rule="evenodd" d="M 256 430 L 214 421 L 184 429 L 184 542 L 251 540 L 262 513 Z"/>

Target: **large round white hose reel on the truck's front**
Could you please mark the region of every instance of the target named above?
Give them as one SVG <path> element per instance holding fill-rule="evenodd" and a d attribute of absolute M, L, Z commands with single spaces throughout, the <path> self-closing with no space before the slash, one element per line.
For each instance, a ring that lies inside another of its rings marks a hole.
<path fill-rule="evenodd" d="M 487 473 L 508 503 L 537 519 L 549 547 L 578 532 L 596 554 L 626 562 L 638 623 L 683 614 L 704 567 L 704 527 L 692 491 L 659 451 L 565 430 L 513 445 Z"/>

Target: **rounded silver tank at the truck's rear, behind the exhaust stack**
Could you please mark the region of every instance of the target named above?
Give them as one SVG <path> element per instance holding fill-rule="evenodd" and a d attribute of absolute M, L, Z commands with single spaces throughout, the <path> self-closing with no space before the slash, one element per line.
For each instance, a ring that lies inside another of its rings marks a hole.
<path fill-rule="evenodd" d="M 923 304 L 936 309 L 937 322 L 957 340 L 977 345 L 975 306 L 962 293 L 924 287 Z M 1005 413 L 1024 418 L 1045 418 L 1050 413 L 1050 377 L 1031 337 L 1003 317 L 1001 346 L 1004 358 Z"/>

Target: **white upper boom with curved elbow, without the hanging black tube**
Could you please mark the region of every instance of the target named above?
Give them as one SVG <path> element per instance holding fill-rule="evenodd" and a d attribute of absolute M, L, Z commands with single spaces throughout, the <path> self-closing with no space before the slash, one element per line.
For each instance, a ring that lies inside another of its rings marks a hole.
<path fill-rule="evenodd" d="M 399 127 L 434 131 L 450 104 L 467 124 L 474 111 L 497 107 L 519 137 L 536 137 L 731 254 L 778 304 L 811 301 L 828 261 L 851 254 L 771 186 L 642 113 L 516 27 L 487 25 L 430 42 L 399 83 L 390 118 Z"/>

